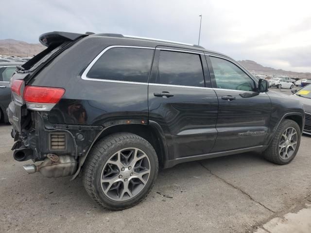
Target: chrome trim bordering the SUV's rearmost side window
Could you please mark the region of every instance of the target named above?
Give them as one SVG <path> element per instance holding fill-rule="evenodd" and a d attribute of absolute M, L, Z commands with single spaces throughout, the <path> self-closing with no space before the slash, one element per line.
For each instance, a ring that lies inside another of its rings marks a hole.
<path fill-rule="evenodd" d="M 131 81 L 120 81 L 120 80 L 109 80 L 109 79 L 93 79 L 88 78 L 87 73 L 88 71 L 94 66 L 94 64 L 97 62 L 97 60 L 108 50 L 112 48 L 134 48 L 134 49 L 147 49 L 147 50 L 155 50 L 154 47 L 143 47 L 143 46 L 127 46 L 127 45 L 112 45 L 106 47 L 104 50 L 102 50 L 92 61 L 91 63 L 86 67 L 85 71 L 81 75 L 81 79 L 83 80 L 89 80 L 89 81 L 99 81 L 99 82 L 108 82 L 108 83 L 129 83 L 129 84 L 141 84 L 141 85 L 148 85 L 148 83 L 139 83 L 139 82 L 131 82 Z"/>

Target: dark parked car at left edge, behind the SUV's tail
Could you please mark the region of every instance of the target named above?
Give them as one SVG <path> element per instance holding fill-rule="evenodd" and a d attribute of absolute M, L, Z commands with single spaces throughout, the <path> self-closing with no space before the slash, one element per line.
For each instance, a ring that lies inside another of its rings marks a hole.
<path fill-rule="evenodd" d="M 0 121 L 2 122 L 9 122 L 6 109 L 11 101 L 10 79 L 17 65 L 23 65 L 23 63 L 0 63 Z"/>

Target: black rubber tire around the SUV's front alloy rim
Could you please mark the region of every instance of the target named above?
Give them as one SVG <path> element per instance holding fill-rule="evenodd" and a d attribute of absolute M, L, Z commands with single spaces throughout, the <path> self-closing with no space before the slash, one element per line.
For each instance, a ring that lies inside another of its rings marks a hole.
<path fill-rule="evenodd" d="M 283 158 L 281 158 L 279 151 L 278 151 L 279 143 L 281 140 L 282 133 L 287 128 L 290 128 L 290 127 L 293 127 L 297 132 L 297 145 L 296 145 L 296 148 L 294 150 L 293 155 L 291 157 L 289 157 L 288 159 L 283 159 Z M 263 155 L 264 155 L 266 160 L 268 160 L 272 163 L 275 163 L 278 165 L 289 164 L 294 159 L 294 157 L 297 154 L 297 151 L 299 150 L 300 140 L 301 140 L 301 131 L 300 131 L 299 125 L 293 120 L 285 119 L 278 126 L 276 133 L 274 135 L 274 138 L 272 139 L 269 147 L 263 152 Z"/>

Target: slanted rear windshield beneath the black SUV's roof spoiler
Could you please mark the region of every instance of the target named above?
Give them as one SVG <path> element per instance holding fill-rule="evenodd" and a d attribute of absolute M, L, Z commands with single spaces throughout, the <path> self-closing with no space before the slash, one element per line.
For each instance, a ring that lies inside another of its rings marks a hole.
<path fill-rule="evenodd" d="M 28 62 L 24 63 L 21 67 L 25 70 L 34 70 L 39 67 L 41 64 L 48 61 L 51 57 L 57 55 L 58 51 L 61 51 L 65 46 L 67 46 L 70 42 L 65 42 L 63 44 L 53 44 L 49 46 L 47 49 L 35 55 Z"/>

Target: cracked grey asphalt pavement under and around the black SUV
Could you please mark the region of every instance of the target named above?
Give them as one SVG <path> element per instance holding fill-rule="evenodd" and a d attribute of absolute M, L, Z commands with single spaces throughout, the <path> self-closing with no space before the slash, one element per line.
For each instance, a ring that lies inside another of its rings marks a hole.
<path fill-rule="evenodd" d="M 28 175 L 22 165 L 31 162 L 13 159 L 10 130 L 0 125 L 0 233 L 254 232 L 311 203 L 310 136 L 286 166 L 244 153 L 162 170 L 146 200 L 111 212 L 88 198 L 79 177 Z"/>

